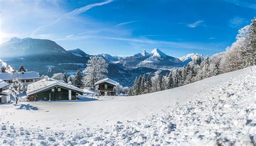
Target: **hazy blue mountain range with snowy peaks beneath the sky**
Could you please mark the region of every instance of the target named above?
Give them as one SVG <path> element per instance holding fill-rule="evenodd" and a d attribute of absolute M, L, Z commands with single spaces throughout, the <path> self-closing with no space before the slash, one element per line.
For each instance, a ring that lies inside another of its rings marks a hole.
<path fill-rule="evenodd" d="M 12 38 L 0 45 L 0 59 L 18 69 L 23 64 L 26 69 L 39 72 L 41 75 L 48 74 L 48 68 L 52 68 L 51 74 L 66 72 L 75 74 L 78 69 L 86 67 L 90 56 L 77 48 L 65 50 L 56 42 L 47 39 Z M 166 55 L 155 48 L 151 52 L 143 50 L 133 56 L 120 57 L 110 54 L 99 54 L 109 63 L 108 76 L 124 86 L 131 86 L 134 79 L 139 75 L 154 74 L 161 69 L 165 75 L 174 67 L 183 67 L 195 57 L 203 55 L 188 54 L 177 58 Z"/>

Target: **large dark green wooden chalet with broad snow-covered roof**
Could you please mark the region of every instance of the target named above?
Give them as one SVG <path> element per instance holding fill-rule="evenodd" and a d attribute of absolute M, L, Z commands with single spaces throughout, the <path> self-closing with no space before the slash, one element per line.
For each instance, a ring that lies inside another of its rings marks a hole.
<path fill-rule="evenodd" d="M 46 76 L 40 81 L 29 84 L 26 94 L 29 101 L 76 100 L 77 94 L 83 94 L 83 90 Z"/>

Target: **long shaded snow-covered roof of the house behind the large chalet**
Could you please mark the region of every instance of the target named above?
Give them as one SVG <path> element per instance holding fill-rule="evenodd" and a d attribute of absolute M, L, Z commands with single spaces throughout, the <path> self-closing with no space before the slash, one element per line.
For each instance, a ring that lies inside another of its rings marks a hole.
<path fill-rule="evenodd" d="M 21 79 L 34 79 L 40 78 L 37 72 L 29 71 L 29 72 L 14 72 L 14 73 L 0 73 L 0 79 L 2 80 L 10 80 L 14 78 L 21 78 Z"/>

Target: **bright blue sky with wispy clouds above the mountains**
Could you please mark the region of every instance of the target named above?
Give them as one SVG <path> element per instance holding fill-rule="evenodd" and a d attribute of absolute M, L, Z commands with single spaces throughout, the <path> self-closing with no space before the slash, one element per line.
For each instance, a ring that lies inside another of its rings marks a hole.
<path fill-rule="evenodd" d="M 255 0 L 0 0 L 0 39 L 50 39 L 91 55 L 159 48 L 176 57 L 211 56 L 230 46 L 255 15 Z"/>

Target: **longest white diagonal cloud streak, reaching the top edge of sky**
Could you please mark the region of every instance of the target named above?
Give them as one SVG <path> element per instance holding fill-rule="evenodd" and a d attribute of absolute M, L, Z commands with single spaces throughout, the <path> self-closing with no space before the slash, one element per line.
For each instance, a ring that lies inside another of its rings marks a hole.
<path fill-rule="evenodd" d="M 65 17 L 76 16 L 76 15 L 78 15 L 78 14 L 80 14 L 80 13 L 86 12 L 87 10 L 89 10 L 89 9 L 95 7 L 95 6 L 105 5 L 105 4 L 111 3 L 112 1 L 113 1 L 113 0 L 107 0 L 107 1 L 102 2 L 102 3 L 93 3 L 93 4 L 89 4 L 89 5 L 83 6 L 83 7 L 81 7 L 81 8 L 75 9 L 75 10 L 69 12 L 69 13 L 65 13 L 62 17 L 60 17 L 60 18 L 58 18 L 57 20 L 53 21 L 53 23 L 38 27 L 38 28 L 37 28 L 35 31 L 33 31 L 30 35 L 35 34 L 37 31 L 41 30 L 43 27 L 52 26 L 52 25 L 56 24 L 58 21 L 60 21 L 61 19 L 65 18 Z"/>

